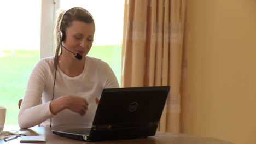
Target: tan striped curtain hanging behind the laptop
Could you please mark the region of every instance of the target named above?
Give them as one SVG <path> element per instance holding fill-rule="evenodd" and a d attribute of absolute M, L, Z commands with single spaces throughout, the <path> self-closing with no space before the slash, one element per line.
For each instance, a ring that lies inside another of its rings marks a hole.
<path fill-rule="evenodd" d="M 171 87 L 160 131 L 181 132 L 185 0 L 125 0 L 121 87 Z M 184 74 L 184 75 L 183 75 Z"/>

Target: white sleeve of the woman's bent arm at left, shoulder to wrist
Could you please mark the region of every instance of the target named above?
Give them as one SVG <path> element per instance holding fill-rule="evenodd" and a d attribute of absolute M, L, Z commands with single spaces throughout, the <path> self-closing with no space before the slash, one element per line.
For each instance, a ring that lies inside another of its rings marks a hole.
<path fill-rule="evenodd" d="M 40 104 L 48 75 L 45 61 L 39 61 L 28 79 L 27 89 L 20 107 L 18 123 L 21 128 L 33 127 L 53 116 L 49 109 L 50 101 Z"/>

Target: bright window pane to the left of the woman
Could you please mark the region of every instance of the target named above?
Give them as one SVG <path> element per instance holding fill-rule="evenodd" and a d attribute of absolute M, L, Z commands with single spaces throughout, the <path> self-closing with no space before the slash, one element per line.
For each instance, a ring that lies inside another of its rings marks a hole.
<path fill-rule="evenodd" d="M 40 13 L 40 1 L 0 2 L 0 106 L 7 107 L 5 124 L 18 124 L 18 101 L 39 60 Z"/>

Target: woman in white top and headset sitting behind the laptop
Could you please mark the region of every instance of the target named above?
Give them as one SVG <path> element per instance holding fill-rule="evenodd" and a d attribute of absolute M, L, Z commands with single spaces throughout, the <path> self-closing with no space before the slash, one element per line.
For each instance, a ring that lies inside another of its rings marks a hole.
<path fill-rule="evenodd" d="M 119 87 L 106 62 L 87 56 L 94 32 L 94 19 L 84 8 L 59 15 L 55 56 L 40 59 L 32 70 L 18 116 L 21 128 L 91 127 L 103 88 Z"/>

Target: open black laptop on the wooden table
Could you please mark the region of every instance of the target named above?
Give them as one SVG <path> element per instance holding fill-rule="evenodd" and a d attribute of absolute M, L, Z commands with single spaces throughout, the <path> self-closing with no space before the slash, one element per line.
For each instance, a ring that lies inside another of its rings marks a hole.
<path fill-rule="evenodd" d="M 83 141 L 154 136 L 169 90 L 170 86 L 103 89 L 91 128 L 52 133 Z"/>

